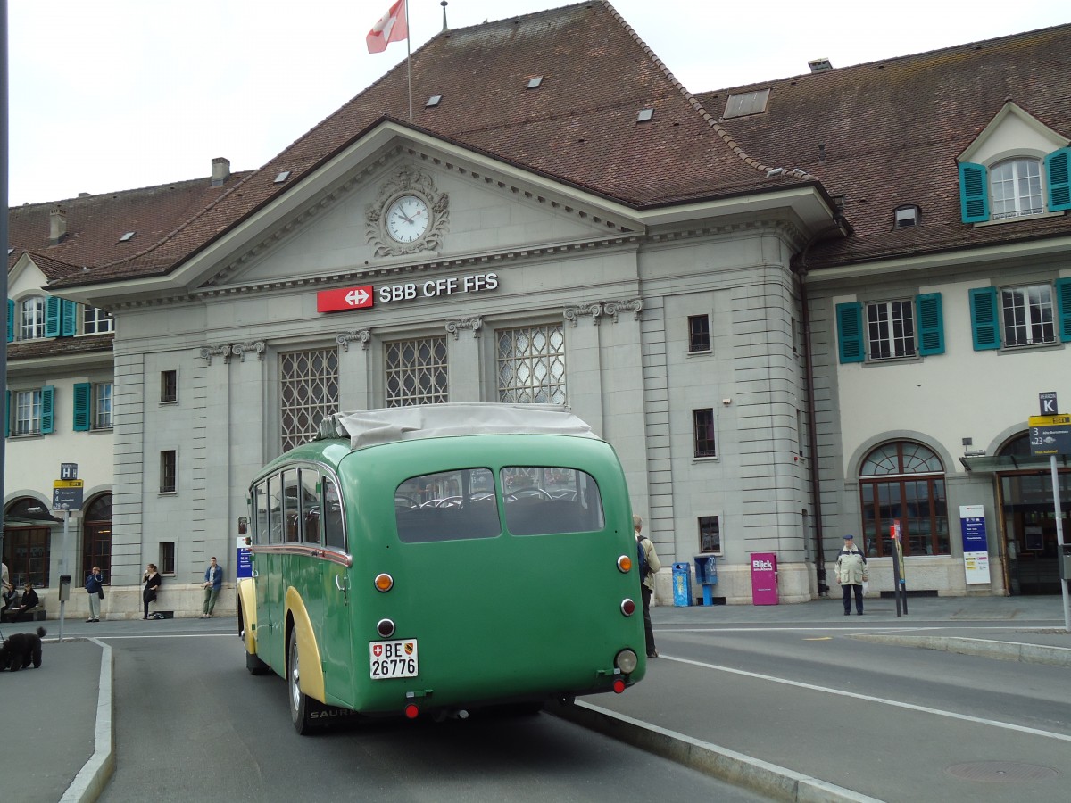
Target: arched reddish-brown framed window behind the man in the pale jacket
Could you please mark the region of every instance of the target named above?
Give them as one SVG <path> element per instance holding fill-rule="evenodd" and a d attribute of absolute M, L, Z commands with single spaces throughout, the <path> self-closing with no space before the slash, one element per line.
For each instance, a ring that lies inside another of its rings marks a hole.
<path fill-rule="evenodd" d="M 863 544 L 868 557 L 893 555 L 890 528 L 899 520 L 904 555 L 950 555 L 945 467 L 911 441 L 885 443 L 859 470 Z"/>

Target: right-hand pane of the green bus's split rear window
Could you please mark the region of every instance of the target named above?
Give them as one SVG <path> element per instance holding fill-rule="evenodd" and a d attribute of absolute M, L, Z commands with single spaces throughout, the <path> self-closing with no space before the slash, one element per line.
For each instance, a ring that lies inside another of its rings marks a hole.
<path fill-rule="evenodd" d="M 599 486 L 578 469 L 509 466 L 502 469 L 502 493 L 506 529 L 514 535 L 603 529 Z"/>

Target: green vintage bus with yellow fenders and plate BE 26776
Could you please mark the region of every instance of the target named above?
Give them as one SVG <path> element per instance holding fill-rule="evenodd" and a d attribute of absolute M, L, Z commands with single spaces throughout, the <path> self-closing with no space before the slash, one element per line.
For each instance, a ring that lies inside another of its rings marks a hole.
<path fill-rule="evenodd" d="M 567 409 L 448 404 L 326 419 L 250 485 L 246 667 L 299 733 L 467 716 L 644 677 L 624 474 Z"/>

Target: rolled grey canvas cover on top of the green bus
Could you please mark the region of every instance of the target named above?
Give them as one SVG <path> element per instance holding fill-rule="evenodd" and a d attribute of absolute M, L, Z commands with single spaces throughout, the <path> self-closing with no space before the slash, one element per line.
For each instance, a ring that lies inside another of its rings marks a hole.
<path fill-rule="evenodd" d="M 462 435 L 571 435 L 598 438 L 560 405 L 455 403 L 338 412 L 320 423 L 319 438 L 349 438 L 350 449 Z"/>

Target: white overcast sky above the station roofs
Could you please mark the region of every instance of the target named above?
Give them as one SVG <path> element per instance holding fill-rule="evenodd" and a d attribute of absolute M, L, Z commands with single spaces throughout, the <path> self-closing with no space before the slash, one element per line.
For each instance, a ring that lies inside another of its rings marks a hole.
<path fill-rule="evenodd" d="M 11 206 L 268 162 L 406 56 L 364 36 L 392 0 L 7 0 Z M 451 28 L 568 3 L 450 0 Z M 1071 21 L 1068 0 L 615 0 L 692 91 Z M 442 27 L 409 0 L 412 48 Z M 578 31 L 577 35 L 583 32 Z"/>

